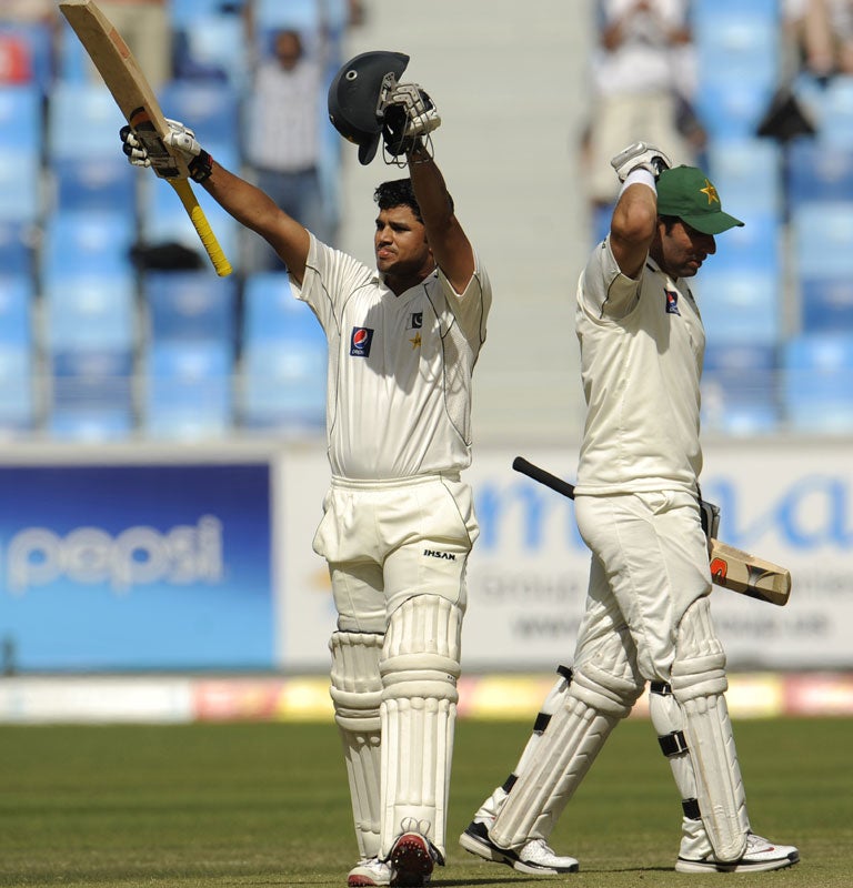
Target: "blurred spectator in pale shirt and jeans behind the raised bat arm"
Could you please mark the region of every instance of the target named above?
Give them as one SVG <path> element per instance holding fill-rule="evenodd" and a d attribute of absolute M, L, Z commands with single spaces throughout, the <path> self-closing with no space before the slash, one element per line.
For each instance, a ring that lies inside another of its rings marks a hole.
<path fill-rule="evenodd" d="M 255 70 L 248 97 L 245 157 L 258 188 L 319 240 L 333 244 L 320 163 L 324 53 L 320 48 L 309 54 L 301 34 L 290 29 L 273 34 L 272 44 L 272 54 Z M 251 270 L 284 270 L 281 259 L 260 239 L 252 248 Z"/>

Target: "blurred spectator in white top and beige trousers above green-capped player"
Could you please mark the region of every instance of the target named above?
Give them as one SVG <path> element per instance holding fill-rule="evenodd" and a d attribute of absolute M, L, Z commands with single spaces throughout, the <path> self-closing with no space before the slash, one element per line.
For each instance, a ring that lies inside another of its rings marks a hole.
<path fill-rule="evenodd" d="M 599 0 L 599 46 L 592 56 L 591 117 L 582 155 L 593 216 L 616 199 L 611 158 L 640 133 L 670 145 L 675 163 L 692 164 L 705 132 L 692 112 L 693 43 L 689 0 Z"/>

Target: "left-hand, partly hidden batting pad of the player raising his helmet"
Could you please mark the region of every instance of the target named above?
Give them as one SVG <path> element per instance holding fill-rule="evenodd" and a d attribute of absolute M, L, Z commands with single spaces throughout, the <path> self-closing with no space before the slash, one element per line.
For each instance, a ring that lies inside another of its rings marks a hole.
<path fill-rule="evenodd" d="M 329 642 L 330 693 L 343 743 L 355 839 L 363 858 L 379 854 L 382 640 L 382 635 L 371 633 L 335 632 Z"/>

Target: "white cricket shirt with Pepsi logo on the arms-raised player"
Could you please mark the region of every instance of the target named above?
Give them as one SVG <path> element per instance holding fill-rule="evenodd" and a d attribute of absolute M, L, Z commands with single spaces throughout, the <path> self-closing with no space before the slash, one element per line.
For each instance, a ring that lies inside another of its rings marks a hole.
<path fill-rule="evenodd" d="M 389 480 L 471 464 L 471 375 L 492 302 L 479 260 L 464 293 L 436 271 L 395 296 L 375 269 L 311 235 L 298 299 L 329 343 L 332 474 Z"/>

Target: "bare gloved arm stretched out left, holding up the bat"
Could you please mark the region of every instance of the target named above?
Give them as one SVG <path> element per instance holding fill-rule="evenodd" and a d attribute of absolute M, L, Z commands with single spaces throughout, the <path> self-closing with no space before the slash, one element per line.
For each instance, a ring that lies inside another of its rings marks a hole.
<path fill-rule="evenodd" d="M 172 120 L 169 127 L 171 132 L 165 141 L 184 154 L 193 180 L 238 222 L 260 234 L 279 254 L 290 274 L 302 283 L 310 245 L 305 228 L 260 189 L 217 163 L 198 143 L 192 130 Z M 144 145 L 130 128 L 122 128 L 121 140 L 134 167 L 150 165 Z"/>

